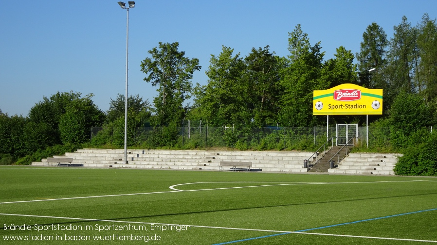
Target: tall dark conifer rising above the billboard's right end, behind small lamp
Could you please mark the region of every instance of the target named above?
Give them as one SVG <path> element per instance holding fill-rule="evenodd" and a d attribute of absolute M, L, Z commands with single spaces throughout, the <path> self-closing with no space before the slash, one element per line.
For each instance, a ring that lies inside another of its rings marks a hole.
<path fill-rule="evenodd" d="M 360 44 L 360 53 L 357 53 L 360 85 L 367 88 L 385 88 L 382 72 L 369 73 L 375 68 L 382 71 L 386 64 L 387 35 L 382 27 L 373 22 L 363 33 L 363 42 Z"/>

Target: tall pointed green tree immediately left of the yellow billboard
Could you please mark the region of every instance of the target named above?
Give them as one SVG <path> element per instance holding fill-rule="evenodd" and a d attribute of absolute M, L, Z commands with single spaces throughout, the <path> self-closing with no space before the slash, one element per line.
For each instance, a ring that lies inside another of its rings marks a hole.
<path fill-rule="evenodd" d="M 300 24 L 289 33 L 288 65 L 281 70 L 280 89 L 284 91 L 280 98 L 278 121 L 281 125 L 307 127 L 313 124 L 312 91 L 321 88 L 318 80 L 321 76 L 324 52 L 320 42 L 310 45 L 307 33 Z"/>

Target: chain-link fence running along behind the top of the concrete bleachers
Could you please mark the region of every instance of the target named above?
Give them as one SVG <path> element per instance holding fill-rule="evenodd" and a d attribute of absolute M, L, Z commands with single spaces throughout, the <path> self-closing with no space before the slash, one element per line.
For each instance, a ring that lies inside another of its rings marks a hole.
<path fill-rule="evenodd" d="M 223 126 L 209 127 L 201 121 L 184 121 L 179 128 L 137 128 L 128 130 L 128 145 L 155 147 L 181 147 L 181 148 L 215 148 L 235 147 L 240 150 L 303 150 L 313 149 L 323 145 L 330 137 L 334 137 L 337 145 L 339 131 L 335 126 L 320 127 L 249 127 L 249 126 Z M 355 125 L 353 125 L 355 127 Z M 361 147 L 390 147 L 390 128 L 356 127 L 354 135 L 356 145 Z M 429 129 L 432 131 L 432 128 Z M 96 144 L 123 144 L 123 129 L 91 128 L 91 142 Z"/>

